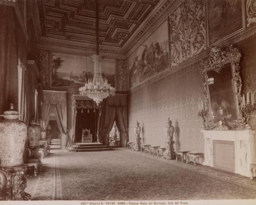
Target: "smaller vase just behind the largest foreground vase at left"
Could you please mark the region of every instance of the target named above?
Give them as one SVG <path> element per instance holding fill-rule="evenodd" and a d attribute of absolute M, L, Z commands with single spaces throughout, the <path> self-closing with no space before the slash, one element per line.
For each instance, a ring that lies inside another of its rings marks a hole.
<path fill-rule="evenodd" d="M 41 127 L 37 125 L 37 122 L 35 120 L 31 120 L 28 128 L 29 147 L 39 146 L 40 138 L 41 138 Z"/>

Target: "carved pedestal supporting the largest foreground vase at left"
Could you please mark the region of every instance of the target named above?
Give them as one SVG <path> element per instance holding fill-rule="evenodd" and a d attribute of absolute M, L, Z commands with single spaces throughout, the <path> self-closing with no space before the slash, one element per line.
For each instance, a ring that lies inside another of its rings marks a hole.
<path fill-rule="evenodd" d="M 30 200 L 31 195 L 25 192 L 26 165 L 0 167 L 0 200 Z"/>

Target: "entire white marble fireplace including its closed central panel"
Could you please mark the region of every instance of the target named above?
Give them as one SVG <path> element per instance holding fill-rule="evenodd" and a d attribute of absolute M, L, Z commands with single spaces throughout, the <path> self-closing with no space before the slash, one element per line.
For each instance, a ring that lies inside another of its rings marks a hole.
<path fill-rule="evenodd" d="M 204 134 L 203 165 L 250 176 L 250 164 L 256 162 L 254 131 L 201 132 Z"/>

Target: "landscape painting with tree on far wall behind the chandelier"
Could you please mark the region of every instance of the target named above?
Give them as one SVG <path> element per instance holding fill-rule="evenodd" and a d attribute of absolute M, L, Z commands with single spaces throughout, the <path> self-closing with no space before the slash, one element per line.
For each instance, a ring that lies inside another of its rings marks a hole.
<path fill-rule="evenodd" d="M 116 62 L 103 59 L 101 62 L 102 77 L 115 87 Z M 81 87 L 93 79 L 94 62 L 91 57 L 52 53 L 51 86 Z"/>

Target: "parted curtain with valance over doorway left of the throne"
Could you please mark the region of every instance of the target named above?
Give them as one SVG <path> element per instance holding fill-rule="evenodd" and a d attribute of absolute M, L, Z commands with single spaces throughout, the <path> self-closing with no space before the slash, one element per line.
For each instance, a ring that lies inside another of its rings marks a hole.
<path fill-rule="evenodd" d="M 67 92 L 43 90 L 42 103 L 42 126 L 47 128 L 50 118 L 51 107 L 54 108 L 59 131 L 64 136 L 61 139 L 61 148 L 71 145 L 71 139 L 67 131 Z"/>

